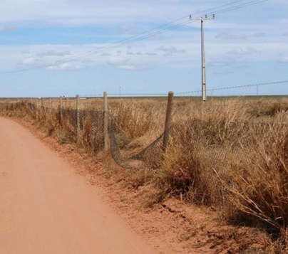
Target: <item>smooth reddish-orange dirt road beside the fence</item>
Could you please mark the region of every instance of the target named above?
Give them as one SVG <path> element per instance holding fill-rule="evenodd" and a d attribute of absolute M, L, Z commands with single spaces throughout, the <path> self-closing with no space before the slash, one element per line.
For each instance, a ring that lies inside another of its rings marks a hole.
<path fill-rule="evenodd" d="M 81 176 L 0 117 L 0 253 L 155 253 Z"/>

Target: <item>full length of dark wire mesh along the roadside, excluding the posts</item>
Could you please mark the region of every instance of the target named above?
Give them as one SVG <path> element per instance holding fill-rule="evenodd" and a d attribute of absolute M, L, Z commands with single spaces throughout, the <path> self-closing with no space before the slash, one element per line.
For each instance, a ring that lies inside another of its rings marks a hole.
<path fill-rule="evenodd" d="M 1 110 L 28 108 L 31 115 L 38 119 L 53 115 L 59 125 L 70 129 L 74 141 L 77 139 L 78 128 L 80 128 L 81 140 L 86 146 L 91 147 L 95 152 L 101 152 L 104 149 L 105 111 L 103 110 L 80 110 L 77 112 L 75 108 L 51 109 L 24 102 L 3 103 L 0 104 L 0 108 Z M 80 117 L 78 118 L 77 115 Z M 79 123 L 77 123 L 78 120 Z M 170 146 L 168 151 L 163 152 L 163 137 L 168 131 L 170 132 Z M 167 154 L 172 156 L 173 149 L 180 149 L 184 154 L 182 156 L 188 157 L 192 161 L 195 161 L 195 158 L 197 160 L 197 157 L 205 157 L 205 160 L 201 160 L 202 166 L 205 164 L 207 167 L 213 167 L 213 170 L 222 170 L 227 166 L 225 158 L 235 157 L 235 160 L 241 158 L 245 161 L 247 160 L 247 151 L 255 140 L 261 140 L 263 144 L 266 144 L 267 140 L 276 139 L 279 132 L 288 134 L 287 122 L 241 122 L 239 120 L 227 122 L 221 119 L 200 120 L 194 117 L 178 119 L 169 129 L 158 134 L 158 137 L 144 148 L 138 146 L 137 149 L 130 149 L 130 144 L 125 140 L 125 133 L 120 132 L 116 127 L 113 112 L 108 113 L 110 154 L 115 163 L 124 169 L 143 167 L 158 169 L 165 162 Z M 267 149 L 269 149 L 269 144 L 267 144 Z M 178 161 L 179 158 L 175 159 L 181 164 L 181 161 Z M 196 166 L 202 167 L 200 164 Z"/>

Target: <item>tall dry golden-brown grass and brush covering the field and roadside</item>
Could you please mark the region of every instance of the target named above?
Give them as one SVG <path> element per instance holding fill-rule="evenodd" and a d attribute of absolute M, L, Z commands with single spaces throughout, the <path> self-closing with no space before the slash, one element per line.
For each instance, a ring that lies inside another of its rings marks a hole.
<path fill-rule="evenodd" d="M 167 196 L 212 206 L 227 223 L 266 231 L 273 240 L 267 252 L 287 252 L 287 99 L 240 97 L 205 104 L 176 99 L 167 151 L 163 153 L 158 142 L 140 162 L 128 161 L 135 169 L 121 169 L 103 153 L 102 123 L 93 125 L 97 121 L 93 117 L 83 120 L 77 138 L 75 118 L 61 117 L 58 100 L 52 102 L 54 110 L 44 114 L 39 110 L 41 102 L 33 103 L 37 112 L 22 102 L 3 107 L 1 114 L 27 117 L 60 142 L 105 157 L 109 174 L 129 179 L 136 189 L 150 190 L 149 206 Z M 75 109 L 75 100 L 65 100 L 63 107 Z M 81 110 L 102 111 L 103 100 L 81 100 Z M 138 154 L 163 133 L 164 100 L 111 99 L 109 110 L 123 158 Z"/>

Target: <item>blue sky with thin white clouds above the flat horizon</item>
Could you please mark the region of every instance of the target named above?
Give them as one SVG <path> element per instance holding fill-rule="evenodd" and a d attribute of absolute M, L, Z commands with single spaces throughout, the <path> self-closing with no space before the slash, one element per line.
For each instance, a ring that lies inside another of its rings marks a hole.
<path fill-rule="evenodd" d="M 205 21 L 207 95 L 256 95 L 256 87 L 217 88 L 288 80 L 288 1 L 257 1 L 0 0 L 0 97 L 119 88 L 200 95 L 200 21 L 189 15 L 213 13 Z M 240 4 L 252 5 L 221 12 Z M 118 43 L 127 38 L 136 41 Z M 288 83 L 261 85 L 258 93 L 287 95 Z"/>

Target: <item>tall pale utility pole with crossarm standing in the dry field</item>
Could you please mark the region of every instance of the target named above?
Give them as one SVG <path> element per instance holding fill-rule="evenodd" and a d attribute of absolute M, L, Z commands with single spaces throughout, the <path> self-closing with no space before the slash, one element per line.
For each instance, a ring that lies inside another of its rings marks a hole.
<path fill-rule="evenodd" d="M 215 14 L 212 18 L 208 18 L 207 15 L 201 18 L 192 18 L 190 15 L 190 20 L 200 20 L 201 21 L 201 53 L 202 53 L 202 101 L 207 100 L 206 94 L 206 68 L 205 68 L 205 40 L 204 40 L 204 21 L 215 19 Z"/>

